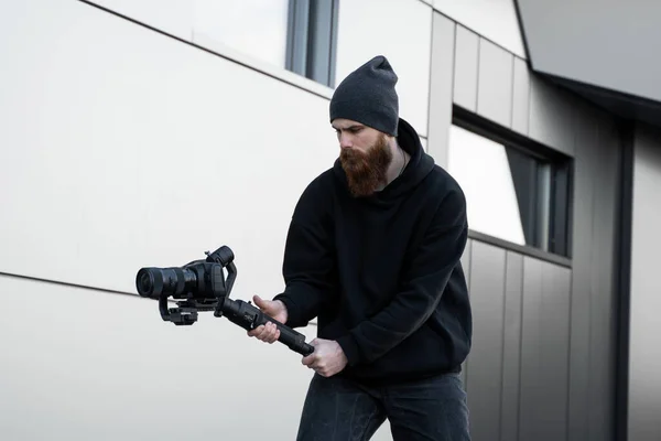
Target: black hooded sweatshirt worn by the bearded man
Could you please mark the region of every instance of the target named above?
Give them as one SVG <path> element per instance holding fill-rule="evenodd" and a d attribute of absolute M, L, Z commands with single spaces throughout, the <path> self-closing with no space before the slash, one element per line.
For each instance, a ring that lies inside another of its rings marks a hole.
<path fill-rule="evenodd" d="M 371 383 L 458 372 L 472 340 L 464 193 L 403 119 L 398 142 L 411 160 L 382 191 L 353 197 L 339 160 L 305 189 L 275 297 L 289 326 L 318 318 L 347 356 L 342 375 Z"/>

